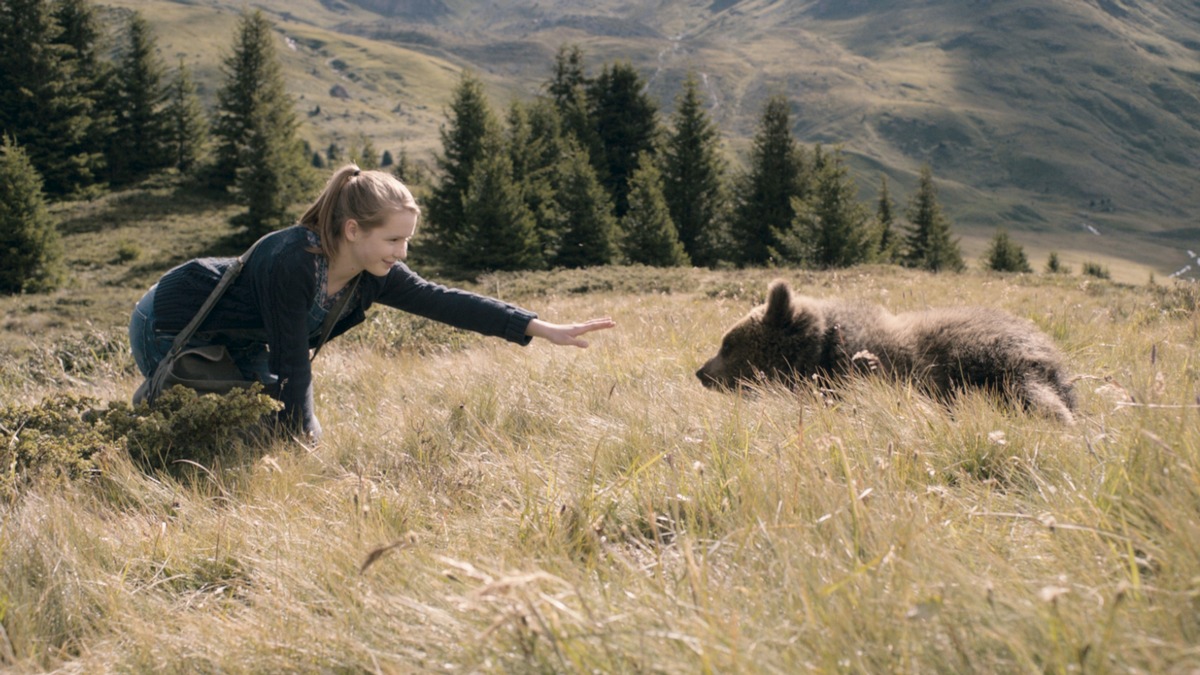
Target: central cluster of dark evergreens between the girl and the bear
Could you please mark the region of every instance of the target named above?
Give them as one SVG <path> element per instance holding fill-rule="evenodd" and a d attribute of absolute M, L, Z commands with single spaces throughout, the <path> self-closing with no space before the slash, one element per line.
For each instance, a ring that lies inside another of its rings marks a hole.
<path fill-rule="evenodd" d="M 964 267 L 929 167 L 904 227 L 882 180 L 858 201 L 840 149 L 804 148 L 791 103 L 763 106 L 745 171 L 732 171 L 694 74 L 664 124 L 629 64 L 587 74 L 559 49 L 532 101 L 503 120 L 482 83 L 457 85 L 428 196 L 424 252 L 449 268 L 541 269 L 610 263 L 804 265 L 868 262 Z"/>

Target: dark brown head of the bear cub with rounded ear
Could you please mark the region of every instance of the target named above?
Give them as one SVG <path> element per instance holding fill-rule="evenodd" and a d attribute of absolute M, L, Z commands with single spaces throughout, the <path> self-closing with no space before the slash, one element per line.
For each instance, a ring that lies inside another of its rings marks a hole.
<path fill-rule="evenodd" d="M 816 307 L 793 298 L 786 281 L 772 281 L 767 301 L 725 333 L 720 351 L 696 377 L 714 389 L 808 377 L 820 358 L 822 323 Z"/>

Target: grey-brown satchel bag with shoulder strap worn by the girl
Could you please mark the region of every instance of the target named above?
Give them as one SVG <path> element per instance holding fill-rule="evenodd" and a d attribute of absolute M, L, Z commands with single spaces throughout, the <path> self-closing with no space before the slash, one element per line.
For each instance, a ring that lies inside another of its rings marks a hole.
<path fill-rule="evenodd" d="M 266 237 L 263 237 L 265 239 Z M 224 345 L 203 345 L 198 347 L 188 347 L 187 342 L 191 341 L 192 336 L 196 334 L 196 329 L 204 323 L 208 318 L 209 312 L 217 304 L 221 297 L 224 294 L 226 289 L 233 283 L 238 274 L 241 273 L 241 268 L 245 267 L 246 261 L 250 259 L 251 253 L 254 249 L 263 241 L 259 239 L 254 241 L 254 245 L 246 250 L 238 259 L 229 265 L 229 269 L 221 276 L 217 281 L 216 287 L 209 294 L 208 299 L 204 300 L 204 305 L 200 310 L 196 312 L 192 321 L 175 336 L 174 342 L 172 342 L 170 351 L 167 356 L 158 362 L 158 366 L 155 369 L 150 377 L 146 377 L 142 386 L 138 387 L 137 392 L 133 393 L 133 405 L 138 405 L 143 401 L 152 404 L 162 395 L 163 392 L 170 389 L 176 384 L 181 384 L 192 389 L 199 394 L 227 394 L 234 389 L 247 389 L 258 380 L 247 378 L 241 374 L 241 369 L 234 363 L 233 357 L 229 354 L 229 350 Z M 325 315 L 325 321 L 320 327 L 320 340 L 313 348 L 312 357 L 310 360 L 317 358 L 317 353 L 320 352 L 320 347 L 329 339 L 330 333 L 334 330 L 334 324 L 341 317 L 342 311 L 346 309 L 346 303 L 349 301 L 350 297 L 354 295 L 358 288 L 359 277 L 355 276 L 350 283 L 350 287 L 342 293 L 342 297 L 337 299 L 337 303 L 330 307 L 329 313 Z M 276 383 L 266 384 L 262 383 L 264 393 L 271 396 L 278 395 L 280 387 Z"/>

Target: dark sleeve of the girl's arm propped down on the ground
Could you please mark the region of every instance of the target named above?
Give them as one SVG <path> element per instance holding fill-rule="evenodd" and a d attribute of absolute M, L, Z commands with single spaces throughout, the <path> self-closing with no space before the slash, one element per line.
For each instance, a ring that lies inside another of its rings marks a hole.
<path fill-rule="evenodd" d="M 281 420 L 292 430 L 320 434 L 308 360 L 308 309 L 317 294 L 311 253 L 284 251 L 256 270 L 256 295 L 266 329 L 271 372 L 280 377 Z"/>

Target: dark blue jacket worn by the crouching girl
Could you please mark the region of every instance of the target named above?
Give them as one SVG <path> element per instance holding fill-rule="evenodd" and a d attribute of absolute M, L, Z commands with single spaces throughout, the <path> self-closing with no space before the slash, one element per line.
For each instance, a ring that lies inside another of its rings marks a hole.
<path fill-rule="evenodd" d="M 292 226 L 266 237 L 226 291 L 198 333 L 264 341 L 271 372 L 280 377 L 283 419 L 304 431 L 319 431 L 313 413 L 312 368 L 308 350 L 316 346 L 307 328 L 316 299 L 317 256 L 308 250 L 305 228 Z M 158 281 L 155 293 L 156 330 L 182 330 L 216 286 L 233 258 L 188 261 Z M 386 276 L 359 275 L 355 298 L 334 325 L 336 338 L 366 319 L 374 303 L 404 310 L 456 328 L 528 345 L 526 327 L 538 315 L 476 293 L 446 288 L 396 263 Z"/>

